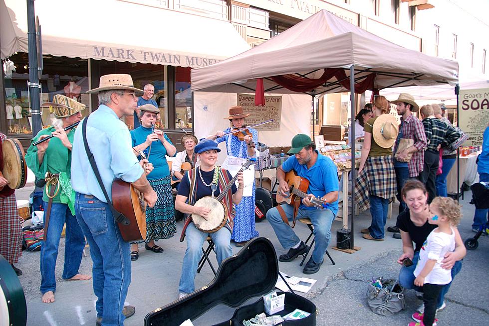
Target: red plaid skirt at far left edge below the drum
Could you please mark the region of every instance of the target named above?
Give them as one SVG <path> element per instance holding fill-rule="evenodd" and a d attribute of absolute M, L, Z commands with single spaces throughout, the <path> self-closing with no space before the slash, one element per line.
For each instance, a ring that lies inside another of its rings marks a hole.
<path fill-rule="evenodd" d="M 9 264 L 15 264 L 21 254 L 22 229 L 15 194 L 0 197 L 0 254 Z"/>

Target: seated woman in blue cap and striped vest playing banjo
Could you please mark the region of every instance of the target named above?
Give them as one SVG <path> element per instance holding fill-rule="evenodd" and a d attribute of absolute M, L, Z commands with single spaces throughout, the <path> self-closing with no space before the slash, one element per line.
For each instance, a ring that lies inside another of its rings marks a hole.
<path fill-rule="evenodd" d="M 178 188 L 175 209 L 188 215 L 180 237 L 180 241 L 187 237 L 187 250 L 178 288 L 179 298 L 195 290 L 197 265 L 202 257 L 202 245 L 208 236 L 216 245 L 219 264 L 233 254 L 231 233 L 236 215 L 233 204 L 238 205 L 243 197 L 243 172 L 240 170 L 233 178 L 228 170 L 216 166 L 220 151 L 215 141 L 201 140 L 194 148 L 199 155 L 200 166 L 185 173 Z"/>

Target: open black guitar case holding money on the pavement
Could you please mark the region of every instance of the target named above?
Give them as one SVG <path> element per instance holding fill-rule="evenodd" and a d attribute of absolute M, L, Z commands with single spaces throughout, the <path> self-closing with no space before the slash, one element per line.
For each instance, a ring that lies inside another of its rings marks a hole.
<path fill-rule="evenodd" d="M 144 325 L 180 326 L 188 319 L 191 321 L 197 319 L 218 304 L 239 307 L 249 298 L 271 292 L 278 277 L 278 261 L 273 245 L 266 238 L 255 238 L 250 240 L 238 254 L 222 262 L 216 277 L 209 285 L 150 312 L 144 319 Z M 277 291 L 278 295 L 282 293 Z M 293 292 L 286 292 L 284 304 L 285 309 L 275 315 L 284 316 L 295 309 L 310 315 L 299 320 L 285 321 L 279 325 L 316 325 L 316 306 L 311 301 Z M 231 320 L 213 326 L 243 325 L 243 320 L 249 320 L 261 313 L 265 313 L 263 298 L 237 309 Z"/>

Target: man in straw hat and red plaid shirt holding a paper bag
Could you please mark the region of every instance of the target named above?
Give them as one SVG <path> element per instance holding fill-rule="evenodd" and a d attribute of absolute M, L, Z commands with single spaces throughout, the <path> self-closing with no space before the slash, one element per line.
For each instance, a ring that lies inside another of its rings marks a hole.
<path fill-rule="evenodd" d="M 397 114 L 401 115 L 399 134 L 394 145 L 394 169 L 396 170 L 397 200 L 399 201 L 399 213 L 406 209 L 401 196 L 401 189 L 409 178 L 418 178 L 423 171 L 424 149 L 427 146 L 423 123 L 413 115 L 419 110 L 414 97 L 407 93 L 401 93 L 399 98 L 391 103 L 397 105 Z M 401 139 L 412 139 L 413 144 L 398 152 Z M 408 157 L 411 156 L 411 159 Z M 389 231 L 396 229 L 388 228 Z M 398 231 L 397 231 L 398 232 Z"/>

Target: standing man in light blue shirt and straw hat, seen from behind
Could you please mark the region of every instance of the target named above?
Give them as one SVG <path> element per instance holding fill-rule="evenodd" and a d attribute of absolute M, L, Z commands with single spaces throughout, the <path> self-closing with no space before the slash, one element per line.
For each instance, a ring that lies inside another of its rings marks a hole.
<path fill-rule="evenodd" d="M 123 307 L 131 282 L 130 243 L 122 238 L 90 166 L 82 130 L 86 123 L 87 143 L 109 201 L 112 181 L 122 179 L 141 191 L 144 200 L 153 207 L 157 196 L 146 179 L 152 165 L 143 171 L 131 147 L 129 130 L 119 120 L 124 115 L 134 114 L 136 94 L 143 91 L 134 88 L 130 75 L 112 74 L 100 77 L 100 87 L 87 93 L 97 94 L 100 106 L 83 119 L 73 141 L 71 178 L 76 192 L 76 218 L 90 245 L 93 260 L 93 290 L 98 297 L 96 324 L 123 325 L 124 319 L 135 313 L 134 307 Z"/>

